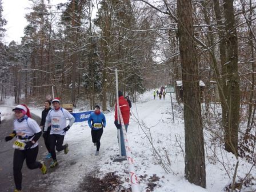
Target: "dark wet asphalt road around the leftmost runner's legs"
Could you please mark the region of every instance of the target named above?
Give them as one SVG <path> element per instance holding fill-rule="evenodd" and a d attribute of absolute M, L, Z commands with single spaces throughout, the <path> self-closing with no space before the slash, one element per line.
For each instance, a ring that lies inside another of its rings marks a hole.
<path fill-rule="evenodd" d="M 32 114 L 33 119 L 38 122 L 38 125 L 41 121 L 41 118 Z M 0 124 L 0 191 L 9 192 L 14 191 L 15 185 L 13 181 L 13 140 L 6 142 L 5 137 L 13 131 L 13 118 L 4 119 Z M 39 152 L 37 160 L 44 160 L 43 158 L 46 155 L 46 148 L 43 142 L 43 138 L 39 139 Z M 23 163 L 22 168 L 22 191 L 35 191 L 37 188 L 37 181 L 42 178 L 41 170 L 29 170 L 26 166 L 26 161 Z M 37 190 L 38 191 L 38 190 Z"/>

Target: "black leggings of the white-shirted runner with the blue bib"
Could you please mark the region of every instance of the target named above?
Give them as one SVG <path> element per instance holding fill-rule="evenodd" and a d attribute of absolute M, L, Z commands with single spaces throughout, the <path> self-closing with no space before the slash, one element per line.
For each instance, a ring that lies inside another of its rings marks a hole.
<path fill-rule="evenodd" d="M 65 145 L 62 145 L 64 141 L 64 135 L 52 134 L 50 135 L 50 153 L 53 160 L 57 160 L 55 146 L 57 151 L 66 149 Z"/>

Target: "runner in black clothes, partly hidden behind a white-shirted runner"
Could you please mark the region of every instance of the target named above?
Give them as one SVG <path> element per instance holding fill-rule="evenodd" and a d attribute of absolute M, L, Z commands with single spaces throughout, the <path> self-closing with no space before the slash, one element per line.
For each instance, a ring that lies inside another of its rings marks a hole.
<path fill-rule="evenodd" d="M 48 112 L 51 110 L 51 101 L 47 100 L 45 101 L 45 109 L 42 111 L 42 118 L 40 122 L 40 127 L 43 130 L 43 139 L 45 140 L 45 146 L 48 151 L 48 154 L 46 155 L 46 159 L 51 158 L 51 153 L 50 153 L 50 131 L 51 131 L 51 126 L 47 127 L 45 129 L 45 119 L 48 114 Z M 45 131 L 46 130 L 46 131 Z"/>

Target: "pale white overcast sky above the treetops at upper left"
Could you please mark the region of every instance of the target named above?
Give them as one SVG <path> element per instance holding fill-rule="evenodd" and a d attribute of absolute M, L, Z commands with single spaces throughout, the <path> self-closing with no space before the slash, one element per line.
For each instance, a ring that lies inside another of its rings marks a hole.
<path fill-rule="evenodd" d="M 45 1 L 47 3 L 48 1 Z M 51 0 L 51 5 L 56 5 L 67 0 Z M 29 13 L 28 9 L 32 3 L 29 0 L 2 0 L 3 3 L 3 18 L 7 20 L 5 26 L 6 33 L 3 41 L 9 44 L 11 41 L 21 43 L 23 37 L 23 29 L 26 26 L 25 14 Z"/>

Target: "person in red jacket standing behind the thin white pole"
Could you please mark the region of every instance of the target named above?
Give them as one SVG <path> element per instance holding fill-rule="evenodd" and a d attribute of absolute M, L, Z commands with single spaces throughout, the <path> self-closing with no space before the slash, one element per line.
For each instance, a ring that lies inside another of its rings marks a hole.
<path fill-rule="evenodd" d="M 130 120 L 130 107 L 129 107 L 129 103 L 123 97 L 122 91 L 118 91 L 118 101 L 119 101 L 119 108 L 121 110 L 121 114 L 123 117 L 123 123 L 125 123 L 125 130 L 127 132 L 129 120 Z M 118 124 L 118 121 L 117 121 L 117 103 L 115 103 L 115 126 L 117 127 L 117 129 L 120 129 L 121 155 L 126 156 L 125 141 L 123 139 L 123 130 L 121 129 L 121 124 Z"/>

